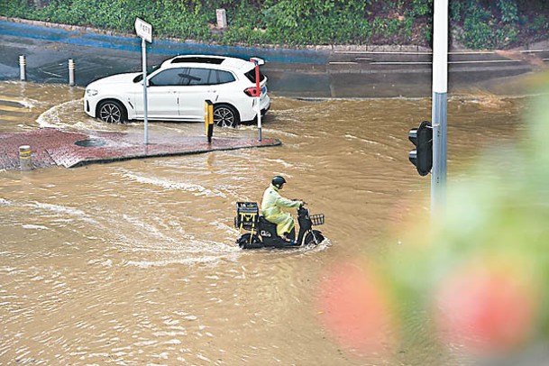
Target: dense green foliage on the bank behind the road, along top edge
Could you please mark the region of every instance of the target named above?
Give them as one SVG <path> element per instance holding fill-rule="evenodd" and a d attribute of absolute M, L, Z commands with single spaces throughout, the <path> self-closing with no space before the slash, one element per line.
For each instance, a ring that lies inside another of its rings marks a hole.
<path fill-rule="evenodd" d="M 133 32 L 136 16 L 157 36 L 224 44 L 417 44 L 432 39 L 435 0 L 0 0 L 0 15 Z M 215 10 L 228 29 L 216 31 Z M 472 49 L 546 38 L 545 0 L 451 0 L 457 41 Z M 451 28 L 451 29 L 452 29 Z"/>

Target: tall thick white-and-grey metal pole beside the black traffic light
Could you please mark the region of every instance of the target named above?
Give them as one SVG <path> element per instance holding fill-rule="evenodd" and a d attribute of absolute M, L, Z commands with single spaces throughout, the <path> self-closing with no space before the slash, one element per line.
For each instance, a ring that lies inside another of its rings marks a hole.
<path fill-rule="evenodd" d="M 448 0 L 434 2 L 433 32 L 433 170 L 431 215 L 444 213 L 446 206 L 446 145 L 448 102 Z"/>

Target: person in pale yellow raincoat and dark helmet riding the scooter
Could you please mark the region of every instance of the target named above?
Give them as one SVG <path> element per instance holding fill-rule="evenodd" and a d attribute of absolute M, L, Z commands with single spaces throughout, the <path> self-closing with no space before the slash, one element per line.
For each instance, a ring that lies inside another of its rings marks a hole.
<path fill-rule="evenodd" d="M 280 208 L 297 208 L 303 205 L 302 201 L 293 201 L 280 196 L 279 190 L 286 183 L 286 179 L 280 176 L 272 178 L 269 188 L 265 189 L 263 199 L 261 200 L 261 215 L 267 221 L 277 224 L 277 234 L 287 242 L 295 243 L 288 234 L 294 229 L 294 219 L 287 212 L 283 212 Z"/>

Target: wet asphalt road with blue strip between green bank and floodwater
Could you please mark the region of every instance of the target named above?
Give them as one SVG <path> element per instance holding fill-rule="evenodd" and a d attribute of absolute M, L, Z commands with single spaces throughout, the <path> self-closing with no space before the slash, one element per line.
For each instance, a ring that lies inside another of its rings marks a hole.
<path fill-rule="evenodd" d="M 85 28 L 51 27 L 0 20 L 0 79 L 19 80 L 24 55 L 29 81 L 68 83 L 69 59 L 75 81 L 89 82 L 121 72 L 140 71 L 141 41 L 136 36 L 100 34 Z M 220 54 L 266 60 L 263 72 L 278 96 L 422 97 L 431 96 L 432 53 L 417 47 L 319 47 L 315 50 L 243 48 L 154 40 L 147 46 L 153 66 L 177 54 Z M 538 62 L 530 61 L 534 57 Z M 449 92 L 487 90 L 509 78 L 548 65 L 544 45 L 515 52 L 452 50 L 448 56 Z"/>

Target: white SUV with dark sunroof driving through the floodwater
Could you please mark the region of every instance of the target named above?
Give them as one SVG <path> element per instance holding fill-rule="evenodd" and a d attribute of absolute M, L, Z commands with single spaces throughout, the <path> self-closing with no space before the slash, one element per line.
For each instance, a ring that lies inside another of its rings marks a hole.
<path fill-rule="evenodd" d="M 255 66 L 223 56 L 176 56 L 147 75 L 147 116 L 152 120 L 204 122 L 204 104 L 214 103 L 214 123 L 235 127 L 256 118 Z M 270 108 L 267 78 L 260 73 L 261 114 Z M 121 124 L 142 120 L 142 72 L 100 78 L 86 87 L 84 110 Z"/>

